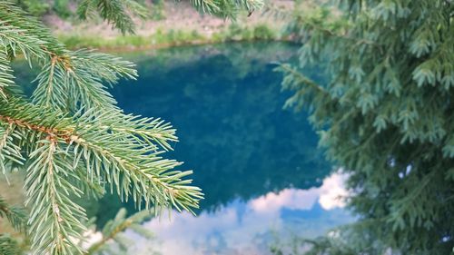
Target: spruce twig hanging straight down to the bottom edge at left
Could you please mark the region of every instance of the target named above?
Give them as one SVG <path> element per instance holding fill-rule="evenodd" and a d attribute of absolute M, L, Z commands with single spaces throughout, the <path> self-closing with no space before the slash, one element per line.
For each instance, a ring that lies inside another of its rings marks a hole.
<path fill-rule="evenodd" d="M 85 230 L 81 220 L 85 218 L 82 207 L 70 199 L 83 192 L 77 189 L 68 177 L 74 176 L 72 164 L 65 158 L 52 137 L 39 141 L 38 148 L 30 154 L 32 162 L 27 167 L 25 205 L 31 205 L 29 233 L 32 249 L 38 253 L 80 254 L 76 241 L 82 239 Z"/>

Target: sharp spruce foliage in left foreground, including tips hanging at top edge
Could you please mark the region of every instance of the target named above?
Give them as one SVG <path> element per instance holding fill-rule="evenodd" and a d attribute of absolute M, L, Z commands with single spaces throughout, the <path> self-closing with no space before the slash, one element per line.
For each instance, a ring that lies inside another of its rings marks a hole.
<path fill-rule="evenodd" d="M 222 14 L 222 5 L 238 10 L 246 2 L 203 3 Z M 133 32 L 129 15 L 142 12 L 133 0 L 86 0 L 78 9 L 83 18 L 98 13 L 123 33 Z M 19 55 L 41 70 L 31 98 L 21 93 L 10 67 Z M 0 169 L 26 172 L 26 226 L 34 254 L 84 252 L 79 243 L 85 211 L 75 196 L 107 190 L 156 212 L 198 207 L 202 192 L 187 179 L 192 172 L 177 171 L 180 162 L 162 157 L 177 141 L 173 127 L 123 113 L 106 91 L 106 85 L 136 77 L 132 63 L 91 50 L 70 51 L 37 19 L 12 2 L 0 2 Z M 0 209 L 4 204 L 1 200 Z M 15 214 L 4 215 L 15 221 Z M 14 241 L 3 237 L 13 247 Z"/>

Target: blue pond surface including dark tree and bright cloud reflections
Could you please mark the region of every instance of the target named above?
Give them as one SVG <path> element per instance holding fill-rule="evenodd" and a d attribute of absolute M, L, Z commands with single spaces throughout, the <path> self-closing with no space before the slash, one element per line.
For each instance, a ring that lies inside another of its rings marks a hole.
<path fill-rule="evenodd" d="M 268 254 L 276 236 L 316 237 L 351 221 L 343 176 L 317 148 L 307 114 L 282 109 L 275 62 L 291 62 L 292 44 L 216 44 L 124 54 L 139 79 L 111 90 L 126 113 L 160 117 L 180 142 L 164 157 L 193 170 L 205 199 L 198 216 L 173 213 L 143 223 L 156 233 L 136 241 L 131 254 Z M 317 70 L 310 76 L 321 81 Z M 132 203 L 106 195 L 88 206 L 98 225 Z"/>

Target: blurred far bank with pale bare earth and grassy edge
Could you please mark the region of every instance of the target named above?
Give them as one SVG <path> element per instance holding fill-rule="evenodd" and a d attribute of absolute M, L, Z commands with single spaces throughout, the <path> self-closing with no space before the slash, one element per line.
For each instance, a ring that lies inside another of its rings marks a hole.
<path fill-rule="evenodd" d="M 202 15 L 189 2 L 163 2 L 156 15 L 155 4 L 146 1 L 154 14 L 145 20 L 134 19 L 135 34 L 121 34 L 100 18 L 88 22 L 75 16 L 61 18 L 51 13 L 42 19 L 53 34 L 68 48 L 97 48 L 105 52 L 128 52 L 166 48 L 179 45 L 216 44 L 224 42 L 289 41 L 284 28 L 294 5 L 289 0 L 273 0 L 267 8 L 242 13 L 236 21 L 212 15 Z M 75 12 L 75 6 L 70 6 Z"/>

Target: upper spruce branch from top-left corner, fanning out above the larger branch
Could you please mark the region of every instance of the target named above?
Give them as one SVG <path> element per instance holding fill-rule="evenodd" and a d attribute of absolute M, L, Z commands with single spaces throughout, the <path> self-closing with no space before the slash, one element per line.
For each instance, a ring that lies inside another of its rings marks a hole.
<path fill-rule="evenodd" d="M 86 108 L 112 107 L 115 101 L 105 91 L 101 80 L 114 83 L 119 77 L 136 76 L 130 62 L 107 54 L 90 51 L 72 53 L 65 50 L 33 17 L 26 16 L 11 3 L 0 5 L 0 15 L 3 14 L 5 17 L 2 18 L 7 24 L 12 24 L 9 25 L 11 27 L 2 29 L 5 47 L 10 47 L 13 53 L 22 50 L 25 57 L 34 57 L 44 65 L 43 72 L 36 78 L 38 86 L 33 96 L 35 103 L 68 112 L 76 111 L 81 105 Z M 15 31 L 14 27 L 20 30 L 20 34 L 11 34 Z M 34 38 L 29 39 L 28 34 L 37 34 L 35 41 L 32 40 Z M 0 38 L 1 36 L 2 34 Z M 25 45 L 32 45 L 32 48 L 26 48 Z M 31 59 L 30 57 L 28 58 Z M 103 75 L 97 77 L 99 74 Z"/>

